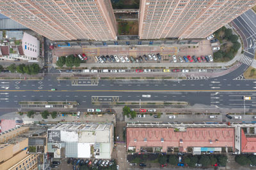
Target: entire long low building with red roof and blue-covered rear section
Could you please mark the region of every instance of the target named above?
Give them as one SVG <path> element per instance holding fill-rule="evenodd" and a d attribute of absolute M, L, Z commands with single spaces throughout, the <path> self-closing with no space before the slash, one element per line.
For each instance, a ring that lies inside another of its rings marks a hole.
<path fill-rule="evenodd" d="M 234 152 L 234 127 L 209 124 L 127 124 L 127 151 Z M 224 149 L 223 149 L 224 148 Z"/>

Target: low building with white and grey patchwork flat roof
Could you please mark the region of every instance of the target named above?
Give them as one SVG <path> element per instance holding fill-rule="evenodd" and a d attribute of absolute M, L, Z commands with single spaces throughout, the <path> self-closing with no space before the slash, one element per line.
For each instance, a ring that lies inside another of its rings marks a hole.
<path fill-rule="evenodd" d="M 48 129 L 47 150 L 55 158 L 110 159 L 113 135 L 113 124 L 58 124 Z"/>

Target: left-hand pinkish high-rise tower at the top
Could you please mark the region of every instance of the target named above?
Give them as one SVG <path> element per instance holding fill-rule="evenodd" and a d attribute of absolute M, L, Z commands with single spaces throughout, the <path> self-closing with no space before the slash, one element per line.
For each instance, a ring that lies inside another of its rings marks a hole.
<path fill-rule="evenodd" d="M 51 40 L 114 40 L 110 0 L 1 0 L 0 13 Z"/>

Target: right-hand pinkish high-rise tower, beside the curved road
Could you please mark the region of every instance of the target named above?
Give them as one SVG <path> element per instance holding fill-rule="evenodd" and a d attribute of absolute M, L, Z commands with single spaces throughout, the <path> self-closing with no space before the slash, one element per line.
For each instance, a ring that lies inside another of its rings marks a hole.
<path fill-rule="evenodd" d="M 205 38 L 255 4 L 255 0 L 141 0 L 139 36 Z"/>

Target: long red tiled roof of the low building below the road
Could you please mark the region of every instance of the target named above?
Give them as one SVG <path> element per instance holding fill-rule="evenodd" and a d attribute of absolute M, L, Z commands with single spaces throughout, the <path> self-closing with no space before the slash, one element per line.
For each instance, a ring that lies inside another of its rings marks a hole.
<path fill-rule="evenodd" d="M 126 138 L 127 149 L 129 146 L 135 146 L 136 152 L 140 152 L 141 147 L 155 146 L 162 147 L 163 152 L 166 152 L 167 147 L 179 147 L 182 148 L 182 152 L 186 152 L 188 147 L 227 146 L 234 149 L 234 128 L 229 127 L 186 128 L 186 132 L 174 132 L 173 128 L 164 127 L 127 127 Z"/>

